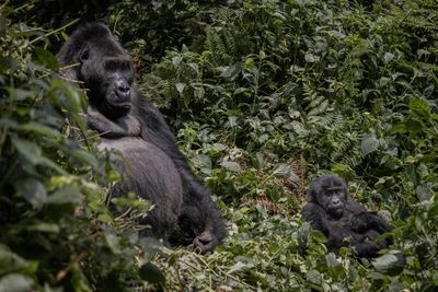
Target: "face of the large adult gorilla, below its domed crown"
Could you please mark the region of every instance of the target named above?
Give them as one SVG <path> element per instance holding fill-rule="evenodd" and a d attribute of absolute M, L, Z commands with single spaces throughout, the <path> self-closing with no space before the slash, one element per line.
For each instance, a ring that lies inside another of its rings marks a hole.
<path fill-rule="evenodd" d="M 90 90 L 91 104 L 103 106 L 106 113 L 129 110 L 134 71 L 129 56 L 113 42 L 105 47 L 92 43 L 84 46 L 80 54 L 79 79 Z"/>

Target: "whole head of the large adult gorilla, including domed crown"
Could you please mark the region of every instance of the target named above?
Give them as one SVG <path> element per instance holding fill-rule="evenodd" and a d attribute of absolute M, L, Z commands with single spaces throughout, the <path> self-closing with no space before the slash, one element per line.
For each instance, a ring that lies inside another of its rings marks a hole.
<path fill-rule="evenodd" d="M 92 26 L 92 27 L 91 27 Z M 88 89 L 90 104 L 105 116 L 125 115 L 130 108 L 134 71 L 129 55 L 108 28 L 99 23 L 84 24 L 70 37 L 59 52 L 64 74 L 80 80 Z"/>

